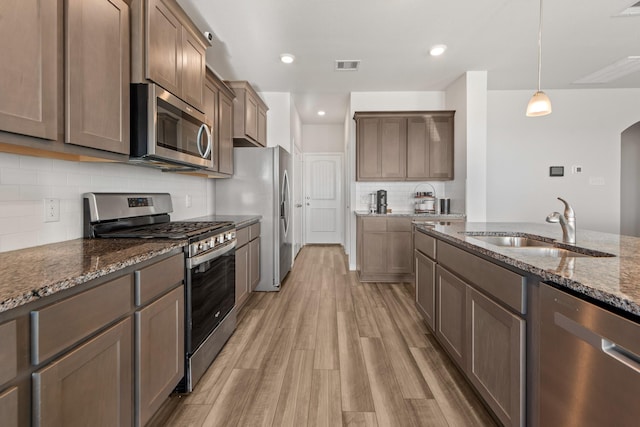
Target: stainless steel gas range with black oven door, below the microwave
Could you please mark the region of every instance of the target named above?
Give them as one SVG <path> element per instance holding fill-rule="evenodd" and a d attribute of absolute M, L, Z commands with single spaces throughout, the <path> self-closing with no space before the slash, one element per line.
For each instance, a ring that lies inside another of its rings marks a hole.
<path fill-rule="evenodd" d="M 84 236 L 186 240 L 185 377 L 193 391 L 236 328 L 236 230 L 227 221 L 171 221 L 168 193 L 86 193 Z"/>

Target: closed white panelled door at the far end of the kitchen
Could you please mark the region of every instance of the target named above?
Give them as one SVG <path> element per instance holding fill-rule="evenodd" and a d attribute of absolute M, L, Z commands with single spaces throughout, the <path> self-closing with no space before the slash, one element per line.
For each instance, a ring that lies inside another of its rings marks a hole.
<path fill-rule="evenodd" d="M 343 243 L 342 154 L 305 154 L 305 242 Z"/>

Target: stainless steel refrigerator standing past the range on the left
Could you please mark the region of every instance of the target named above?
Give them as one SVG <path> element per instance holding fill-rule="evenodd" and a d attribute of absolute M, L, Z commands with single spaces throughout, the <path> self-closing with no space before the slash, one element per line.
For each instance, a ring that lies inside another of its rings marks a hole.
<path fill-rule="evenodd" d="M 279 291 L 293 253 L 291 156 L 280 146 L 237 147 L 233 156 L 233 177 L 216 180 L 216 215 L 262 215 L 255 290 Z"/>

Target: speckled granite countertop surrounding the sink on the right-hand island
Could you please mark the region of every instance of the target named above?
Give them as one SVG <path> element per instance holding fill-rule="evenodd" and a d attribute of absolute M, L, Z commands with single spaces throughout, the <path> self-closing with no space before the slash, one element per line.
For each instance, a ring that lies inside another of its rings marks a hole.
<path fill-rule="evenodd" d="M 558 224 L 470 223 L 418 226 L 434 237 L 483 254 L 519 270 L 572 289 L 604 304 L 640 316 L 640 238 L 581 230 L 575 246 L 606 252 L 614 257 L 552 257 L 535 255 L 527 248 L 495 246 L 463 232 L 533 234 L 562 242 Z"/>

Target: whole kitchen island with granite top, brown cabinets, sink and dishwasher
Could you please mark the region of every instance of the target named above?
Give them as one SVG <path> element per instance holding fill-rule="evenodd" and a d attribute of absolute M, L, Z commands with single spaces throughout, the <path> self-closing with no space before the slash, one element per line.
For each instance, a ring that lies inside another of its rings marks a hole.
<path fill-rule="evenodd" d="M 636 425 L 639 238 L 460 222 L 414 245 L 416 308 L 503 425 Z"/>

